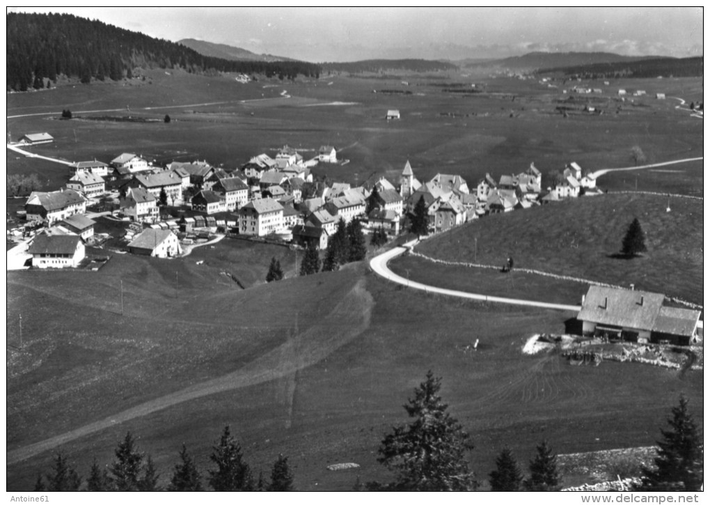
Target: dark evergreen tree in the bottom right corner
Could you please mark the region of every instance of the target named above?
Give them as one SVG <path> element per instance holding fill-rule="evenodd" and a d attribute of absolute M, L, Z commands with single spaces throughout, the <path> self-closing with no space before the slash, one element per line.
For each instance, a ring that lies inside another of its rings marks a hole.
<path fill-rule="evenodd" d="M 655 467 L 642 467 L 643 491 L 699 491 L 703 484 L 703 439 L 688 412 L 688 401 L 680 398 L 668 418 L 670 430 L 661 430 Z"/>

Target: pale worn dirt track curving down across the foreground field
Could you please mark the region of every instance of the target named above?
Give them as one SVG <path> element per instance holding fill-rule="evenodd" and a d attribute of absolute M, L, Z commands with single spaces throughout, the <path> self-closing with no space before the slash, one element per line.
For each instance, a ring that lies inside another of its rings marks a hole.
<path fill-rule="evenodd" d="M 195 386 L 190 386 L 181 391 L 175 391 L 175 393 L 141 403 L 141 405 L 117 413 L 115 416 L 84 425 L 67 433 L 62 433 L 62 435 L 24 447 L 18 447 L 7 452 L 7 465 L 26 460 L 58 445 L 71 442 L 104 428 L 109 428 L 112 425 L 178 405 L 178 403 L 231 389 L 261 384 L 273 379 L 293 377 L 293 374 L 298 370 L 320 362 L 320 360 L 339 349 L 339 347 L 364 332 L 370 325 L 373 305 L 374 301 L 365 288 L 365 281 L 361 280 L 316 325 L 313 325 L 305 332 L 297 333 L 295 337 L 263 354 L 263 356 L 258 357 L 253 362 L 246 364 L 243 368 L 217 379 L 195 384 Z M 333 331 L 333 328 L 338 330 Z"/>

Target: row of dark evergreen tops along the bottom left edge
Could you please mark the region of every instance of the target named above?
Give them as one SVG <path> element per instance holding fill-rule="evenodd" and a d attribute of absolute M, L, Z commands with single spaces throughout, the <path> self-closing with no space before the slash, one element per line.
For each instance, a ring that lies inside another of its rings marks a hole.
<path fill-rule="evenodd" d="M 207 491 L 208 487 L 214 491 L 227 492 L 295 491 L 288 457 L 278 455 L 268 482 L 262 472 L 255 478 L 251 467 L 244 460 L 241 445 L 229 432 L 229 426 L 224 427 L 219 442 L 212 447 L 209 460 L 213 466 L 207 470 L 206 475 L 187 452 L 185 444 L 182 444 L 167 487 L 158 484 L 160 474 L 153 465 L 153 458 L 138 450 L 130 431 L 119 442 L 114 455 L 114 461 L 104 467 L 99 467 L 94 458 L 84 485 L 84 479 L 77 473 L 77 469 L 65 455 L 58 452 L 50 472 L 38 474 L 34 491 Z"/>

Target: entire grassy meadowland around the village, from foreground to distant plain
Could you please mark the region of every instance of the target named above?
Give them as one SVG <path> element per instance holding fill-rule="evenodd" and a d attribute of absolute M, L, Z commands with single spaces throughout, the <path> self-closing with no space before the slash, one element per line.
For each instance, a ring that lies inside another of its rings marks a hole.
<path fill-rule="evenodd" d="M 484 93 L 462 97 L 417 77 L 408 77 L 413 94 L 394 95 L 373 90 L 402 87 L 395 79 L 327 76 L 241 85 L 226 77 L 146 73 L 148 80 L 130 85 L 8 94 L 8 116 L 40 114 L 8 119 L 12 138 L 48 131 L 55 143 L 31 150 L 72 161 L 108 162 L 136 152 L 227 168 L 285 143 L 305 158 L 332 144 L 350 163 L 314 171 L 351 183 L 375 175 L 396 183 L 407 159 L 420 180 L 459 173 L 475 185 L 486 172 L 496 178 L 519 173 L 532 161 L 543 173 L 569 161 L 589 170 L 633 165 L 634 145 L 648 161 L 702 156 L 702 121 L 675 109 L 677 100 L 616 101 L 617 87 L 651 92 L 654 86 L 698 99 L 701 79 L 615 81 L 595 98 L 606 100 L 606 114 L 564 118 L 555 112 L 567 98 L 559 89 L 507 77 L 486 79 Z M 65 108 L 75 116 L 105 116 L 81 111 L 111 109 L 148 119 L 170 114 L 173 121 L 60 121 Z M 388 123 L 384 115 L 394 108 L 402 119 Z M 48 189 L 67 179 L 59 164 L 14 153 L 7 161 L 8 173 L 38 173 Z M 634 187 L 701 195 L 701 163 L 676 169 L 682 171 L 643 171 Z M 600 185 L 631 189 L 635 176 L 622 174 L 605 175 Z M 611 194 L 561 202 L 487 217 L 420 248 L 455 261 L 477 254 L 495 265 L 513 255 L 516 266 L 634 282 L 702 303 L 701 202 L 674 199 L 670 213 L 666 204 L 665 197 Z M 633 215 L 648 234 L 648 254 L 609 258 Z M 266 285 L 272 256 L 290 277 L 293 251 L 228 239 L 182 259 L 114 254 L 97 272 L 9 272 L 6 438 L 13 457 L 7 489 L 31 489 L 37 472 L 51 465 L 51 450 L 23 453 L 28 445 L 71 430 L 80 431 L 58 447 L 84 476 L 93 457 L 109 463 L 116 442 L 131 430 L 165 484 L 182 442 L 206 470 L 211 445 L 230 424 L 257 472 L 268 473 L 283 453 L 298 489 L 349 490 L 358 476 L 362 482 L 387 478 L 376 462 L 379 442 L 393 424 L 405 422 L 401 406 L 428 369 L 442 376 L 444 401 L 474 438 L 481 479 L 505 445 L 521 461 L 543 438 L 560 453 L 652 445 L 681 393 L 702 424 L 701 373 L 679 376 L 612 362 L 568 366 L 554 353 L 520 352 L 535 332 L 564 332 L 569 313 L 413 292 L 374 276 L 365 264 Z M 548 284 L 518 272 L 501 282 L 497 272 L 430 267 L 414 258 L 393 264 L 399 273 L 409 268 L 417 280 L 448 279 L 520 298 L 554 290 L 550 300 L 578 303 L 584 292 L 582 285 Z M 479 350 L 466 352 L 476 339 Z M 97 424 L 87 428 L 91 423 Z M 326 469 L 337 462 L 361 467 Z M 583 479 L 591 477 L 565 483 Z"/>

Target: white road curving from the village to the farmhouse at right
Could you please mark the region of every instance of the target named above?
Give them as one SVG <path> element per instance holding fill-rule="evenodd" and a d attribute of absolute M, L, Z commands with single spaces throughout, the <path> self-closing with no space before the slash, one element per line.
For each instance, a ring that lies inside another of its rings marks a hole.
<path fill-rule="evenodd" d="M 425 291 L 426 293 L 439 293 L 441 295 L 457 296 L 458 298 L 468 298 L 469 300 L 481 300 L 484 302 L 491 303 L 506 303 L 508 305 L 523 305 L 525 307 L 539 307 L 546 309 L 556 309 L 556 310 L 569 310 L 570 312 L 578 313 L 581 307 L 579 305 L 562 305 L 559 303 L 545 303 L 545 302 L 535 302 L 531 300 L 518 300 L 516 298 L 501 298 L 498 296 L 489 295 L 479 295 L 476 293 L 467 293 L 466 291 L 457 291 L 453 289 L 437 288 L 435 286 L 427 286 L 426 284 L 418 283 L 415 281 L 410 281 L 403 277 L 398 276 L 396 273 L 391 271 L 387 264 L 388 262 L 403 254 L 408 247 L 413 247 L 417 244 L 417 240 L 408 242 L 402 247 L 395 247 L 389 251 L 386 251 L 379 256 L 374 257 L 370 261 L 370 268 L 373 272 L 377 273 L 378 276 L 386 278 L 388 281 L 392 281 L 402 286 L 407 286 L 408 288 L 418 289 Z"/>

